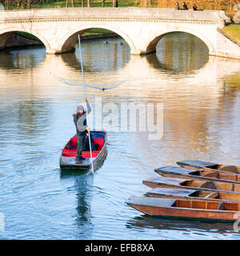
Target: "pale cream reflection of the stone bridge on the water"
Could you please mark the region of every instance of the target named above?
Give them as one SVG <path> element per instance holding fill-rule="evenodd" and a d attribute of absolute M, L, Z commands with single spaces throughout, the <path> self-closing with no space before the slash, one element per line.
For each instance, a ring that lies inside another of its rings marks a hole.
<path fill-rule="evenodd" d="M 122 54 L 124 53 L 122 52 Z M 34 56 L 28 55 L 28 58 L 31 60 L 34 59 Z M 182 94 L 182 91 L 186 90 L 186 85 L 190 85 L 193 88 L 195 91 L 194 97 L 196 97 L 196 99 L 199 97 L 208 98 L 208 102 L 213 102 L 214 104 L 223 93 L 223 82 L 219 81 L 240 72 L 240 62 L 229 58 L 210 57 L 206 62 L 202 63 L 201 66 L 192 70 L 191 75 L 182 75 L 181 72 L 172 74 L 168 71 L 168 66 L 166 70 L 166 63 L 158 62 L 157 58 L 151 59 L 133 55 L 130 56 L 129 61 L 125 65 L 122 64 L 118 69 L 113 70 L 110 66 L 108 70 L 102 72 L 101 66 L 99 66 L 101 63 L 97 63 L 98 66 L 96 66 L 96 58 L 92 57 L 91 54 L 86 55 L 84 58 L 84 70 L 87 84 L 99 85 L 99 87 L 115 84 L 116 82 L 121 84 L 121 86 L 114 90 L 105 90 L 104 95 L 122 98 L 127 94 L 130 97 L 142 98 L 146 97 L 146 90 L 139 90 L 139 88 L 150 88 L 150 90 L 147 91 L 149 100 L 154 100 L 155 97 L 158 98 L 159 94 L 164 92 L 168 94 L 170 98 L 176 97 L 176 102 L 183 101 L 186 102 L 186 104 L 187 102 L 190 102 L 190 104 L 194 102 L 192 94 L 188 95 L 189 98 L 178 97 L 179 94 Z M 25 62 L 28 63 L 30 60 L 26 59 Z M 2 84 L 9 83 L 9 77 L 6 76 L 6 72 L 12 72 L 8 63 L 6 63 L 6 65 L 7 66 L 4 66 L 4 64 L 0 62 L 0 66 L 2 66 L 0 68 L 0 80 Z M 78 67 L 78 69 L 76 67 Z M 17 66 L 17 68 L 20 67 Z M 26 90 L 31 90 L 33 81 L 26 79 L 26 77 L 34 77 L 34 86 L 39 86 L 38 95 L 43 98 L 53 97 L 57 88 L 59 91 L 62 90 L 63 92 L 61 95 L 58 95 L 59 98 L 66 98 L 65 90 L 70 90 L 74 94 L 79 94 L 79 92 L 82 94 L 82 79 L 81 77 L 79 78 L 80 63 L 75 54 L 63 54 L 62 56 L 46 55 L 46 58 L 42 58 L 42 62 L 38 62 L 36 66 L 33 66 L 33 69 L 26 69 L 25 65 L 22 66 L 22 69 L 22 72 L 18 74 L 18 80 L 24 81 L 24 85 L 22 84 L 22 86 L 26 86 Z M 162 69 L 165 71 L 159 73 Z M 95 71 L 92 72 L 92 70 Z M 138 70 L 138 72 L 136 72 L 136 70 Z M 66 86 L 66 84 L 59 81 L 58 77 L 73 80 L 78 80 L 79 78 L 80 86 Z M 176 79 L 173 79 L 174 77 Z M 179 77 L 181 77 L 180 83 Z M 201 83 L 199 83 L 199 81 L 201 81 Z M 49 90 L 46 90 L 46 87 L 42 87 L 42 85 L 48 85 Z M 9 88 L 11 91 L 17 91 L 18 86 L 18 83 L 14 83 L 10 84 Z M 98 94 L 102 95 L 102 90 L 90 88 L 88 88 L 88 90 L 90 98 Z M 205 101 L 202 102 L 204 103 Z"/>

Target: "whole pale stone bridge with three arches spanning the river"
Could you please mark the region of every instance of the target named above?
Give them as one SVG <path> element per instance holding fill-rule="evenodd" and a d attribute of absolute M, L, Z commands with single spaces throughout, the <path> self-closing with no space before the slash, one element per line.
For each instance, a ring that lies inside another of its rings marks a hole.
<path fill-rule="evenodd" d="M 211 55 L 240 58 L 240 47 L 218 32 L 224 11 L 158 8 L 62 8 L 0 13 L 0 49 L 15 31 L 34 34 L 47 54 L 74 50 L 78 34 L 91 28 L 112 30 L 130 46 L 131 54 L 147 54 L 165 34 L 182 31 L 206 43 Z"/>

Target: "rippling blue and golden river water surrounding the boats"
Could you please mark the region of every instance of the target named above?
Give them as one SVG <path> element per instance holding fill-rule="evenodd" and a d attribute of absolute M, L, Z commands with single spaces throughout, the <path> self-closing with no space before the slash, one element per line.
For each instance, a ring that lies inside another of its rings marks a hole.
<path fill-rule="evenodd" d="M 94 174 L 59 168 L 83 102 L 78 50 L 0 52 L 0 238 L 239 239 L 233 224 L 148 217 L 125 202 L 179 160 L 240 166 L 240 62 L 208 56 L 190 34 L 168 34 L 142 57 L 122 38 L 105 41 L 82 42 L 91 128 L 108 132 Z M 144 114 L 124 119 L 130 104 L 146 109 L 146 126 Z"/>

